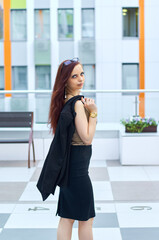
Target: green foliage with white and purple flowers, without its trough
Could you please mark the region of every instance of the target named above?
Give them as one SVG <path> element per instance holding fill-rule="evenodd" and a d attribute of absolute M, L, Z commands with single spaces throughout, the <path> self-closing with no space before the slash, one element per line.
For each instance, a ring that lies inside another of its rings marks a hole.
<path fill-rule="evenodd" d="M 155 121 L 154 118 L 141 118 L 141 117 L 130 117 L 127 119 L 121 119 L 122 123 L 130 132 L 142 132 L 145 127 L 157 126 L 159 121 Z"/>

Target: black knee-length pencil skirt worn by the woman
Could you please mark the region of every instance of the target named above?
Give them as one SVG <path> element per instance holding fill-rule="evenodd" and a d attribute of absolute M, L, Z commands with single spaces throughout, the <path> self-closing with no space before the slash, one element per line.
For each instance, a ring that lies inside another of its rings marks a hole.
<path fill-rule="evenodd" d="M 75 136 L 77 137 L 77 132 Z M 87 221 L 96 216 L 93 187 L 88 171 L 91 155 L 92 144 L 71 144 L 69 184 L 67 187 L 60 187 L 56 215 L 79 221 Z"/>

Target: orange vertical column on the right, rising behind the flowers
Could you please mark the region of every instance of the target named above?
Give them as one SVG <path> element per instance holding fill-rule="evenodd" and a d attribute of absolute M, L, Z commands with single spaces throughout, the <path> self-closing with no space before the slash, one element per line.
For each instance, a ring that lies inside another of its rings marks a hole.
<path fill-rule="evenodd" d="M 145 31 L 144 31 L 144 0 L 139 0 L 139 88 L 145 89 Z M 139 115 L 145 117 L 145 93 L 139 94 Z"/>

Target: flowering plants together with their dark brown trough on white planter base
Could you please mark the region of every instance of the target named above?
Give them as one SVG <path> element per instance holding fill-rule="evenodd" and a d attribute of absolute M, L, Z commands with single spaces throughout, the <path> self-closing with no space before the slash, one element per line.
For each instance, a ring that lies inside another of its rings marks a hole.
<path fill-rule="evenodd" d="M 120 120 L 120 123 L 125 126 L 125 132 L 129 133 L 157 132 L 158 122 L 154 118 L 140 116 Z"/>

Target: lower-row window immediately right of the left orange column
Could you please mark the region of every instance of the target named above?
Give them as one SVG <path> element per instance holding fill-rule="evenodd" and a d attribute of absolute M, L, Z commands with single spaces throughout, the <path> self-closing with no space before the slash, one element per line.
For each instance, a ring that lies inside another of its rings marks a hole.
<path fill-rule="evenodd" d="M 27 67 L 12 67 L 12 89 L 27 90 Z"/>

